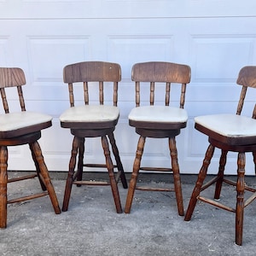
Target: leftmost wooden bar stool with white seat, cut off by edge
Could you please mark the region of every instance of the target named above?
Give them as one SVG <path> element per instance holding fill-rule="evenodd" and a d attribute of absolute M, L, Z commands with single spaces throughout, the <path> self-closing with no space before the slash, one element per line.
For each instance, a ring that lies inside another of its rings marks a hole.
<path fill-rule="evenodd" d="M 0 67 L 0 91 L 5 113 L 0 114 L 0 228 L 7 226 L 7 204 L 32 200 L 49 195 L 55 213 L 61 213 L 55 189 L 50 181 L 44 157 L 38 144 L 41 130 L 51 126 L 51 116 L 43 113 L 28 112 L 21 86 L 26 84 L 25 74 L 20 68 Z M 17 87 L 21 112 L 9 113 L 9 104 L 5 89 Z M 37 172 L 17 178 L 8 178 L 8 147 L 28 144 L 32 152 Z M 43 192 L 8 200 L 7 184 L 20 180 L 38 177 Z"/>

